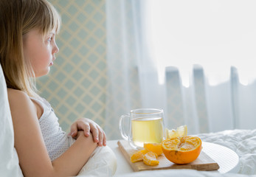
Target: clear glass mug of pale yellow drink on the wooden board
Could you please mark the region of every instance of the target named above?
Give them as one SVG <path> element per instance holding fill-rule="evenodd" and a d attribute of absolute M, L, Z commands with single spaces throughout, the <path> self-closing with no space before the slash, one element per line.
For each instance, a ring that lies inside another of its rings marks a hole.
<path fill-rule="evenodd" d="M 124 119 L 129 119 L 129 132 L 125 133 Z M 120 133 L 131 147 L 139 149 L 144 143 L 160 143 L 165 139 L 164 111 L 154 108 L 139 108 L 120 117 Z"/>

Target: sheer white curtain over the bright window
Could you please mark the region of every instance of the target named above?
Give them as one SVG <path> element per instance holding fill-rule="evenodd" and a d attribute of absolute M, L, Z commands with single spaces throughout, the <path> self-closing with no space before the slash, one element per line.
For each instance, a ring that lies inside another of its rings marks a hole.
<path fill-rule="evenodd" d="M 163 108 L 188 133 L 256 125 L 256 2 L 106 0 L 108 139 L 122 114 Z"/>

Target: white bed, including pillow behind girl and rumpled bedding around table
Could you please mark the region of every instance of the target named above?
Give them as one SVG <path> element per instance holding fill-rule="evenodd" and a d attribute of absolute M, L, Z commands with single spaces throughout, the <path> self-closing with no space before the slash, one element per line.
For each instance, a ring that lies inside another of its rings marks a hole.
<path fill-rule="evenodd" d="M 18 165 L 18 156 L 14 148 L 13 122 L 7 100 L 7 89 L 0 65 L 0 176 L 23 176 Z M 239 156 L 237 172 L 218 173 L 218 171 L 197 170 L 151 170 L 138 173 L 131 172 L 129 164 L 123 161 L 117 163 L 115 176 L 256 176 L 256 129 L 229 130 L 217 133 L 198 134 L 204 142 L 212 142 L 229 147 Z M 111 144 L 111 141 L 109 141 Z M 112 146 L 118 153 L 118 149 Z M 122 171 L 120 171 L 120 169 Z M 99 170 L 98 176 L 105 176 L 104 170 Z"/>

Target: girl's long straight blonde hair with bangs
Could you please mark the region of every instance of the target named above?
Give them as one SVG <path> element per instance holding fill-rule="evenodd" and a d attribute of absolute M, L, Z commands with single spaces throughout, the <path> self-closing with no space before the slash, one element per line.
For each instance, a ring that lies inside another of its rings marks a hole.
<path fill-rule="evenodd" d="M 46 0 L 0 1 L 0 63 L 7 88 L 35 97 L 35 74 L 23 54 L 23 35 L 37 29 L 42 36 L 60 29 L 60 16 Z"/>

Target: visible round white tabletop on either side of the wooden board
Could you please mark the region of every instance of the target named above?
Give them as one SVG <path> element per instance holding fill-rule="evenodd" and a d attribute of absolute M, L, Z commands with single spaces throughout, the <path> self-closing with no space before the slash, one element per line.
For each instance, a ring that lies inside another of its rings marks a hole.
<path fill-rule="evenodd" d="M 117 172 L 115 175 L 122 175 L 125 173 L 133 173 L 130 164 L 126 161 L 125 157 L 122 155 L 118 145 L 118 140 L 111 140 L 107 142 L 107 145 L 111 147 L 117 156 Z M 216 145 L 210 142 L 203 142 L 203 151 L 207 153 L 210 158 L 218 163 L 220 168 L 218 171 L 220 173 L 238 173 L 239 170 L 239 157 L 231 149 L 224 147 L 222 145 Z"/>

